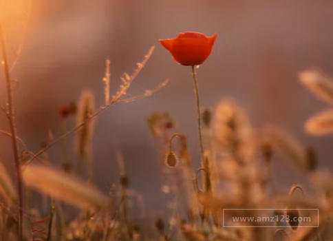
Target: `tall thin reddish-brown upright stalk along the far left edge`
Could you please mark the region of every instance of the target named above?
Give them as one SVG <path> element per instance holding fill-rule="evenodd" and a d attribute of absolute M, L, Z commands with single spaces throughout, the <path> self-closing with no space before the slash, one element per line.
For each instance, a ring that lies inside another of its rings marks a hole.
<path fill-rule="evenodd" d="M 15 161 L 15 169 L 17 174 L 17 187 L 19 192 L 19 219 L 18 219 L 18 234 L 19 240 L 23 240 L 22 233 L 22 216 L 23 216 L 23 197 L 22 197 L 22 177 L 21 177 L 21 164 L 19 159 L 19 149 L 17 145 L 17 129 L 15 126 L 15 118 L 14 118 L 14 103 L 12 101 L 12 85 L 10 80 L 10 70 L 8 67 L 8 59 L 6 53 L 6 43 L 5 38 L 3 36 L 3 28 L 0 19 L 0 41 L 2 48 L 2 56 L 3 56 L 3 68 L 6 77 L 6 88 L 7 88 L 7 97 L 8 97 L 8 114 L 9 114 L 9 123 L 10 123 L 10 132 L 12 132 L 12 149 L 14 152 L 14 161 Z"/>

